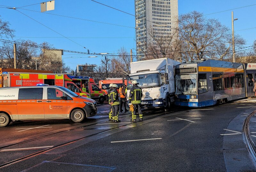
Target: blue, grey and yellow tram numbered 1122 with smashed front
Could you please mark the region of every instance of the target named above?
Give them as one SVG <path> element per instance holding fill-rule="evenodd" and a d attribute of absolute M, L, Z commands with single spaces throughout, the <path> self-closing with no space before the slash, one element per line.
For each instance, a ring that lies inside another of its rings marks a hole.
<path fill-rule="evenodd" d="M 200 60 L 175 68 L 175 105 L 204 107 L 255 96 L 256 63 Z"/>

